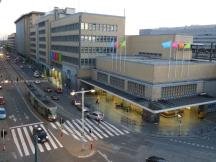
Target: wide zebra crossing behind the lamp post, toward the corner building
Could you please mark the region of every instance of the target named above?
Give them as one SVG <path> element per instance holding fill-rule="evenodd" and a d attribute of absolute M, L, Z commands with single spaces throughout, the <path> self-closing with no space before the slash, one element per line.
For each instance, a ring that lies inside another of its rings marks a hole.
<path fill-rule="evenodd" d="M 130 133 L 128 130 L 119 129 L 106 121 L 98 123 L 89 119 L 85 119 L 84 130 L 82 129 L 82 120 L 80 119 L 66 120 L 62 125 L 59 122 L 50 123 L 50 125 L 53 129 L 60 129 L 65 135 L 71 135 L 74 139 L 84 142 Z M 83 137 L 82 132 L 84 132 Z"/>

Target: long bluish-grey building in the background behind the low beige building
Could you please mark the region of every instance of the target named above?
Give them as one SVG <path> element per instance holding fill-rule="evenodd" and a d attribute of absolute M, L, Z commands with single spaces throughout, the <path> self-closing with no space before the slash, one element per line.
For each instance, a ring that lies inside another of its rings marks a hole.
<path fill-rule="evenodd" d="M 192 25 L 173 28 L 158 29 L 140 29 L 139 34 L 147 35 L 163 35 L 163 34 L 180 34 L 193 36 L 194 43 L 211 45 L 216 42 L 216 25 Z"/>

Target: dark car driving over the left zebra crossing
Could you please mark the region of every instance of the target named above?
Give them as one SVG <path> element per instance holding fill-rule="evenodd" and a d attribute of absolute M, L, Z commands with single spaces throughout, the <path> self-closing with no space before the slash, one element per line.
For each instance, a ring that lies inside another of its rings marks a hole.
<path fill-rule="evenodd" d="M 49 138 L 46 131 L 42 127 L 33 127 L 33 131 L 32 131 L 33 140 L 35 136 L 37 136 L 38 143 L 47 142 Z"/>

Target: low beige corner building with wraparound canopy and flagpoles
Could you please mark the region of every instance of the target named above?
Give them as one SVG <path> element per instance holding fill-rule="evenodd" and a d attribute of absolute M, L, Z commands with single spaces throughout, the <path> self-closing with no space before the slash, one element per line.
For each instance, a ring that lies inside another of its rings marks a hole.
<path fill-rule="evenodd" d="M 97 57 L 91 77 L 81 82 L 117 96 L 151 121 L 171 110 L 216 107 L 216 96 L 209 88 L 215 86 L 216 64 L 192 60 L 190 49 L 170 53 L 161 46 L 167 40 L 192 43 L 192 37 L 129 36 L 127 40 L 131 56 Z"/>

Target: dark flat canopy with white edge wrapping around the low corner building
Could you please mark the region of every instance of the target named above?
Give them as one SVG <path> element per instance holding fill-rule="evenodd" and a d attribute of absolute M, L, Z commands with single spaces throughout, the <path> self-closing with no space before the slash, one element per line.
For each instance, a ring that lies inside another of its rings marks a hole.
<path fill-rule="evenodd" d="M 129 103 L 139 106 L 140 108 L 147 110 L 154 114 L 161 113 L 161 112 L 167 112 L 171 110 L 183 109 L 186 107 L 193 107 L 193 106 L 216 103 L 215 97 L 211 97 L 207 95 L 188 96 L 184 98 L 169 99 L 169 100 L 149 101 L 149 100 L 125 93 L 116 88 L 104 85 L 92 79 L 85 78 L 85 79 L 81 79 L 80 81 L 83 83 L 89 84 L 93 87 L 104 90 L 109 94 L 117 96 L 123 100 L 128 101 Z"/>

